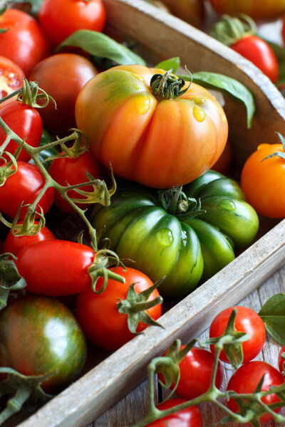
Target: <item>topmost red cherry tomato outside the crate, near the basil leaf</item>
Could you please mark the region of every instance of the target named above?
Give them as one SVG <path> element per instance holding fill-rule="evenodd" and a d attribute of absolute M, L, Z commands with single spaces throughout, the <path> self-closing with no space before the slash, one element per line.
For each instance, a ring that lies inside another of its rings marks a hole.
<path fill-rule="evenodd" d="M 264 322 L 261 317 L 248 307 L 229 307 L 222 310 L 211 323 L 209 327 L 209 336 L 219 337 L 224 333 L 226 329 L 229 316 L 232 310 L 237 308 L 237 316 L 234 320 L 234 327 L 239 332 L 247 332 L 250 335 L 250 339 L 242 343 L 242 352 L 244 355 L 243 363 L 249 362 L 250 360 L 257 357 L 257 354 L 261 352 L 264 346 L 266 330 Z M 214 352 L 214 346 L 211 346 L 212 352 Z M 229 362 L 224 351 L 221 352 L 219 359 L 224 362 Z"/>

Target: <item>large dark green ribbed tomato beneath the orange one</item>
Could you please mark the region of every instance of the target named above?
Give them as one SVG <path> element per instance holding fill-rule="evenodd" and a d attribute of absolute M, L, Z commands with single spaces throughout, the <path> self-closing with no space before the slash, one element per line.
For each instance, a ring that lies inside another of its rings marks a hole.
<path fill-rule="evenodd" d="M 164 296 L 187 295 L 217 273 L 234 259 L 233 246 L 252 242 L 259 225 L 236 182 L 218 172 L 206 172 L 182 191 L 173 208 L 167 194 L 119 186 L 110 206 L 95 206 L 91 220 L 120 258 L 135 260 L 152 281 L 166 276 L 159 288 Z"/>

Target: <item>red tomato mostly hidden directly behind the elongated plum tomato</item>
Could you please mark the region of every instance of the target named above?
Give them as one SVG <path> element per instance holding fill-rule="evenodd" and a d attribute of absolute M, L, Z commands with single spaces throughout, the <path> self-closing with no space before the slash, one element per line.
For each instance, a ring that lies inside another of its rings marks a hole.
<path fill-rule="evenodd" d="M 37 221 L 35 221 L 35 224 L 37 224 Z M 55 237 L 53 236 L 53 233 L 51 233 L 46 226 L 41 228 L 41 231 L 39 231 L 35 236 L 15 236 L 11 231 L 9 231 L 4 242 L 4 252 L 10 252 L 17 255 L 22 248 L 31 245 L 31 243 L 54 239 Z"/>

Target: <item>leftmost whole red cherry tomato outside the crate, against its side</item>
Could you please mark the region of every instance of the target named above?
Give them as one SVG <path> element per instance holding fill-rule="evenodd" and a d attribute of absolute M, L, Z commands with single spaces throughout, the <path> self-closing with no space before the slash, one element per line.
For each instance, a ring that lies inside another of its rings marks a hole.
<path fill-rule="evenodd" d="M 180 350 L 184 348 L 185 345 L 182 345 Z M 204 394 L 211 385 L 213 367 L 214 355 L 211 352 L 199 347 L 192 347 L 179 364 L 180 380 L 175 389 L 175 394 L 187 400 L 195 399 L 195 397 Z M 164 382 L 162 374 L 159 374 L 159 379 Z M 217 389 L 222 385 L 222 379 L 223 371 L 219 363 L 215 379 Z M 173 386 L 174 384 L 170 389 L 173 389 Z"/>

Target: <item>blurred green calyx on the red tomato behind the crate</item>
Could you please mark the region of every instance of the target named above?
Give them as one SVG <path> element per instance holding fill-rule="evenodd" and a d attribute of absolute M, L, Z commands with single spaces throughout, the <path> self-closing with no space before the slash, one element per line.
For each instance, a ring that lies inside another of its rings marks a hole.
<path fill-rule="evenodd" d="M 232 46 L 241 38 L 253 36 L 256 33 L 256 23 L 246 14 L 239 14 L 239 18 L 223 15 L 210 31 L 212 37 L 217 38 L 226 46 Z"/>

